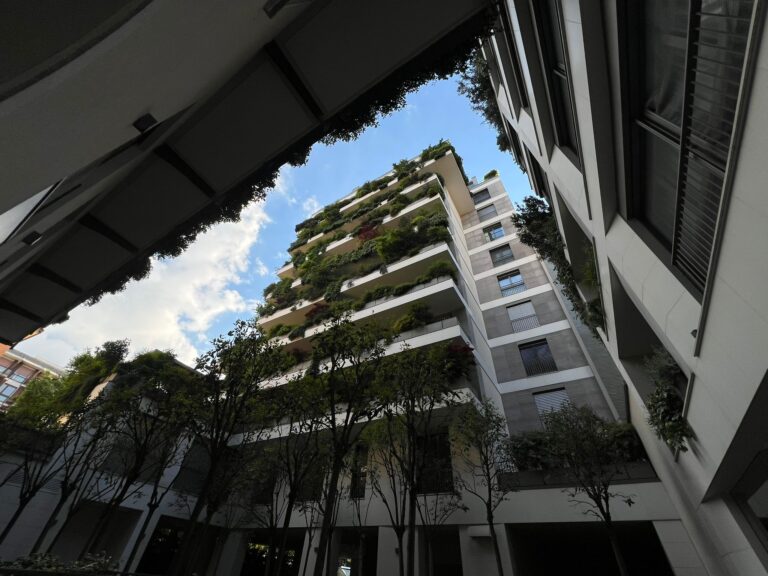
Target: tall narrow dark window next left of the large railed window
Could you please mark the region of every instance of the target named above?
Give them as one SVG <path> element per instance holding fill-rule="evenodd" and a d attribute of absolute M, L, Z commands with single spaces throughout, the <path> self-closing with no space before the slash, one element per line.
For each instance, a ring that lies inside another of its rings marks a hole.
<path fill-rule="evenodd" d="M 578 164 L 576 113 L 568 77 L 565 34 L 560 14 L 560 0 L 534 2 L 544 74 L 549 92 L 552 121 L 557 145 Z"/>

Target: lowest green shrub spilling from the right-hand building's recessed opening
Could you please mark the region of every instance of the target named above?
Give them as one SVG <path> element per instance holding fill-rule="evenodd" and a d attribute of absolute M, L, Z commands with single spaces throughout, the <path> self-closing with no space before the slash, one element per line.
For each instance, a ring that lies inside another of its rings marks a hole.
<path fill-rule="evenodd" d="M 663 348 L 654 349 L 646 358 L 645 368 L 656 385 L 645 403 L 648 423 L 672 450 L 686 452 L 686 443 L 694 437 L 694 433 L 683 416 L 681 393 L 687 384 L 685 374 Z"/>

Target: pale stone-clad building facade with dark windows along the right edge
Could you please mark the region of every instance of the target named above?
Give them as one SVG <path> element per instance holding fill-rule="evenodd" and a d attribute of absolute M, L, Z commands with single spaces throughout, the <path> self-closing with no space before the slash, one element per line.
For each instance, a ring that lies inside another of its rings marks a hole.
<path fill-rule="evenodd" d="M 571 261 L 581 243 L 595 249 L 605 310 L 600 339 L 628 384 L 629 417 L 680 515 L 656 523 L 672 566 L 678 574 L 764 575 L 761 486 L 768 477 L 765 428 L 757 423 L 768 369 L 763 3 L 664 3 L 659 13 L 653 2 L 502 4 L 498 31 L 484 45 L 498 107 L 513 155 L 553 207 Z M 733 36 L 717 28 L 736 21 L 738 28 L 728 24 Z M 653 22 L 675 22 L 677 40 Z M 562 47 L 560 64 L 552 64 L 550 42 Z M 680 65 L 645 76 L 643 58 Z M 710 87 L 731 83 L 727 106 L 711 94 L 702 104 L 705 76 Z M 673 164 L 665 180 L 660 164 L 644 164 L 638 145 L 660 138 L 648 136 L 658 118 L 647 111 L 652 104 L 634 99 L 676 86 L 679 103 L 667 112 L 682 125 L 668 140 Z M 721 123 L 720 136 L 702 138 L 697 123 L 704 121 Z M 559 128 L 569 122 L 572 133 Z M 691 163 L 704 157 L 710 171 L 696 176 Z M 662 205 L 663 217 L 654 212 Z M 674 227 L 664 228 L 663 218 Z M 692 241 L 695 264 L 686 259 Z M 653 385 L 642 357 L 658 346 L 688 380 L 683 414 L 695 437 L 686 452 L 673 453 L 647 422 Z M 692 547 L 678 544 L 682 533 Z"/>

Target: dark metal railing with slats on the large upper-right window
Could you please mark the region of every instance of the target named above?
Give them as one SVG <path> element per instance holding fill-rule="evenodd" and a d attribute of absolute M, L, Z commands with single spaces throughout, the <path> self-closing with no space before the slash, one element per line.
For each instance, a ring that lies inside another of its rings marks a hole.
<path fill-rule="evenodd" d="M 700 293 L 709 276 L 754 0 L 690 4 L 672 263 Z"/>

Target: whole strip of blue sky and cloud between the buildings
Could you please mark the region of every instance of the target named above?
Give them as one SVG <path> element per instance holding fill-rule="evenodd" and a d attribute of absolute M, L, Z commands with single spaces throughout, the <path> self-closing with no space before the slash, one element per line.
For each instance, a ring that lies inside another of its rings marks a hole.
<path fill-rule="evenodd" d="M 63 366 L 85 348 L 129 338 L 134 352 L 170 349 L 193 362 L 210 338 L 253 313 L 288 257 L 297 223 L 441 138 L 456 147 L 469 177 L 496 169 L 513 201 L 530 193 L 527 177 L 498 150 L 494 130 L 458 94 L 456 80 L 434 82 L 357 140 L 316 144 L 306 165 L 284 167 L 276 189 L 247 207 L 240 222 L 214 227 L 180 257 L 156 262 L 148 278 L 73 310 L 19 349 Z"/>

